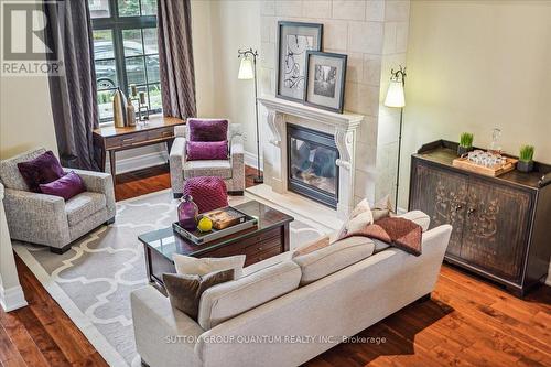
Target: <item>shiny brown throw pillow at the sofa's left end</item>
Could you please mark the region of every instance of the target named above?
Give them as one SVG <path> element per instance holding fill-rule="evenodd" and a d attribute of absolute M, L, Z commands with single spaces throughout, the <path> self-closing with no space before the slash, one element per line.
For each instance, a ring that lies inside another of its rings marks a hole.
<path fill-rule="evenodd" d="M 201 295 L 208 288 L 234 280 L 234 269 L 206 276 L 164 273 L 163 282 L 171 304 L 193 320 L 197 320 Z"/>

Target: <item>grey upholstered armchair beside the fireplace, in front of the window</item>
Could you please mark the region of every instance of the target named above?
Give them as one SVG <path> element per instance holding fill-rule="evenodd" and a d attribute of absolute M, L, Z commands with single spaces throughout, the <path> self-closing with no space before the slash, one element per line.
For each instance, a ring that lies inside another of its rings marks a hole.
<path fill-rule="evenodd" d="M 227 160 L 186 160 L 187 126 L 174 128 L 175 139 L 170 151 L 171 185 L 174 197 L 181 197 L 185 180 L 197 176 L 216 176 L 224 180 L 229 194 L 242 195 L 245 191 L 245 158 L 241 128 L 228 128 L 229 158 Z"/>

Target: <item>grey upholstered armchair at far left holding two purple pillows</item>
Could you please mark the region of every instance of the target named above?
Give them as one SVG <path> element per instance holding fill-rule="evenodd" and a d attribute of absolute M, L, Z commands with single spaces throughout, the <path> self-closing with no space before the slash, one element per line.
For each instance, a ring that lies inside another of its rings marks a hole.
<path fill-rule="evenodd" d="M 110 174 L 71 169 L 83 179 L 86 192 L 66 202 L 60 196 L 30 192 L 18 163 L 45 151 L 41 148 L 0 162 L 6 219 L 12 239 L 45 245 L 52 252 L 63 253 L 91 229 L 115 222 L 115 191 Z"/>

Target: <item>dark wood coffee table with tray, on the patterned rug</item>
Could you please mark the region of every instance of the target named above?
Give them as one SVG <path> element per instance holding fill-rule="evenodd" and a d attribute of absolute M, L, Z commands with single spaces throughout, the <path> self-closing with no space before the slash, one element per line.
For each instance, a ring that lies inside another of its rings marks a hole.
<path fill-rule="evenodd" d="M 289 224 L 294 220 L 293 217 L 256 201 L 235 207 L 256 217 L 258 226 L 204 245 L 196 245 L 179 236 L 172 227 L 139 236 L 145 252 L 149 280 L 163 285 L 163 273 L 176 272 L 173 253 L 197 258 L 245 255 L 245 266 L 249 266 L 289 251 Z"/>

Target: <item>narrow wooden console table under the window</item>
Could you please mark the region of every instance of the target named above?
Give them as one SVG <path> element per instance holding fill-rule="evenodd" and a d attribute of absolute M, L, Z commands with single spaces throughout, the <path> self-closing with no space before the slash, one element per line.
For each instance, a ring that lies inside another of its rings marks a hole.
<path fill-rule="evenodd" d="M 170 152 L 174 141 L 174 127 L 184 125 L 184 120 L 175 117 L 151 117 L 147 125 L 116 128 L 114 126 L 94 130 L 94 145 L 101 151 L 101 170 L 105 171 L 106 155 L 109 152 L 112 184 L 116 184 L 115 153 L 121 150 L 134 149 L 165 142 Z"/>

